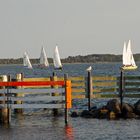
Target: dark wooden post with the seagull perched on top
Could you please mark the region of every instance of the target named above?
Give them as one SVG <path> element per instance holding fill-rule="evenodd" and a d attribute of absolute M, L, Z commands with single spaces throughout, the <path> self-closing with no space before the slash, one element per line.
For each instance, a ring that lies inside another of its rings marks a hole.
<path fill-rule="evenodd" d="M 87 77 L 87 97 L 88 97 L 88 110 L 91 109 L 91 95 L 92 95 L 92 76 L 91 71 L 88 71 Z"/>

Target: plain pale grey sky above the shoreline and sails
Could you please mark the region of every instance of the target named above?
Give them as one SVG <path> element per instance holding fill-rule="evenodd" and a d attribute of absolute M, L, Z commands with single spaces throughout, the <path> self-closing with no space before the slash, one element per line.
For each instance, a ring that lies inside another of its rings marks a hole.
<path fill-rule="evenodd" d="M 0 58 L 140 53 L 140 0 L 0 0 Z"/>

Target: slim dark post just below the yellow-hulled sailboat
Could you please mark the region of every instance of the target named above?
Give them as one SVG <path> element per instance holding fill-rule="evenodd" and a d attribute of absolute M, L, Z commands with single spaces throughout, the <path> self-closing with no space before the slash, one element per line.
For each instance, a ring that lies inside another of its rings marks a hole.
<path fill-rule="evenodd" d="M 123 70 L 121 70 L 120 74 L 120 104 L 121 104 L 121 112 L 122 112 L 122 105 L 123 105 L 123 92 L 124 92 L 124 73 Z"/>

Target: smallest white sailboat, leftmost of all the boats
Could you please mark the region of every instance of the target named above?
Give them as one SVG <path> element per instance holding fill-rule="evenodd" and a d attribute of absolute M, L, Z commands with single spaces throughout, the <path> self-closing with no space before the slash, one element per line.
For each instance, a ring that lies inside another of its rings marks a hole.
<path fill-rule="evenodd" d="M 29 68 L 29 69 L 32 69 L 32 64 L 29 60 L 29 57 L 28 57 L 28 54 L 25 52 L 24 55 L 23 55 L 23 65 L 25 68 Z"/>

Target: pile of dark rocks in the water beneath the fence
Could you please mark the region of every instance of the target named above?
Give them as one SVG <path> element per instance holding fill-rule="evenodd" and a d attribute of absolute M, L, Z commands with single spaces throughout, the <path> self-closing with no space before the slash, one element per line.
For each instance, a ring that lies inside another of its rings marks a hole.
<path fill-rule="evenodd" d="M 98 119 L 119 119 L 119 118 L 140 118 L 140 100 L 135 104 L 123 102 L 118 99 L 111 99 L 101 108 L 92 106 L 91 109 L 82 112 L 73 111 L 71 117 L 98 118 Z"/>

